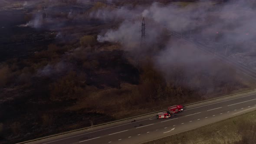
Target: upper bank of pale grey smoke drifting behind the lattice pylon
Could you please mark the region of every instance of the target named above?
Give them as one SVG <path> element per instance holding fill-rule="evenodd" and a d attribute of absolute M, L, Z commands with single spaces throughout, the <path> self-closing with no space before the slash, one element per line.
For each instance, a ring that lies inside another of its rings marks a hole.
<path fill-rule="evenodd" d="M 165 27 L 169 31 L 183 33 L 190 31 L 192 33 L 193 31 L 193 38 L 213 40 L 220 36 L 219 43 L 231 45 L 255 39 L 253 33 L 256 29 L 256 15 L 252 3 L 251 1 L 237 0 L 213 5 L 211 1 L 208 1 L 191 4 L 187 7 L 177 7 L 171 4 L 163 6 L 153 3 L 150 7 L 136 7 L 132 10 L 126 7 L 115 10 L 98 10 L 91 13 L 91 16 L 102 20 L 125 20 L 117 30 L 108 30 L 104 36 L 98 36 L 99 41 L 122 41 L 125 43 L 130 41 L 131 37 L 137 39 L 136 36 L 140 34 L 141 18 L 145 17 L 146 33 L 150 33 L 147 35 L 147 39 L 152 36 L 150 32 L 152 27 L 148 27 L 149 24 L 157 23 L 155 26 Z M 138 27 L 135 26 L 136 24 Z M 158 31 L 155 31 L 154 34 L 160 32 L 159 29 L 156 30 Z M 122 33 L 126 33 L 126 36 L 122 36 Z M 121 38 L 115 39 L 118 38 L 115 35 L 119 34 L 121 34 Z M 244 47 L 250 49 L 250 46 Z"/>

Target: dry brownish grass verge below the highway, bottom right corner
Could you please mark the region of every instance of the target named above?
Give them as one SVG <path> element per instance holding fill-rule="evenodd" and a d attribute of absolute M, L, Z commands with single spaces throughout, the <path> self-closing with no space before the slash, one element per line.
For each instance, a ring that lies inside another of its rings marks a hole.
<path fill-rule="evenodd" d="M 143 144 L 256 144 L 256 111 Z"/>

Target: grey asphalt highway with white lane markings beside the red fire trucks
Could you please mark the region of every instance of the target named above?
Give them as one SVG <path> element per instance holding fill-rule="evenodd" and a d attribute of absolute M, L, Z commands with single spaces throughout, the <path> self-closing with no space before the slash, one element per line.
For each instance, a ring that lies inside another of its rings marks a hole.
<path fill-rule="evenodd" d="M 256 110 L 256 91 L 204 101 L 184 107 L 171 118 L 154 115 L 121 121 L 85 131 L 52 137 L 33 144 L 139 144 L 181 133 Z"/>

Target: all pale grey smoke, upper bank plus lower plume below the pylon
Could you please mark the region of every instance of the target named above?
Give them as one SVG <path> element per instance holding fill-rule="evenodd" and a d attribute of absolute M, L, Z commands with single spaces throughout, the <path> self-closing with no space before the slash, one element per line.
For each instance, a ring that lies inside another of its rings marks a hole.
<path fill-rule="evenodd" d="M 255 51 L 256 10 L 250 1 L 231 1 L 223 4 L 211 4 L 211 1 L 191 4 L 187 7 L 177 7 L 172 4 L 161 5 L 153 3 L 150 7 L 136 7 L 129 10 L 125 7 L 115 10 L 98 10 L 91 16 L 102 20 L 123 20 L 118 29 L 109 29 L 105 34 L 98 35 L 99 42 L 119 42 L 123 47 L 136 48 L 140 42 L 142 17 L 146 21 L 146 42 L 151 45 L 157 39 L 163 28 L 169 33 L 191 33 L 193 39 L 207 43 L 218 43 L 216 48 L 229 45 L 229 51 L 236 53 L 237 49 L 245 52 Z M 255 4 L 255 3 L 254 3 Z M 217 40 L 216 40 L 217 39 Z M 136 43 L 133 45 L 133 43 Z M 238 47 L 235 49 L 235 47 Z M 149 47 L 146 47 L 150 49 Z M 225 50 L 224 50 L 225 52 Z M 178 45 L 177 42 L 167 43 L 164 50 L 155 53 L 155 65 L 168 78 L 171 65 L 181 65 L 185 68 L 184 75 L 189 77 L 193 69 L 191 64 L 202 65 L 198 69 L 208 72 L 219 72 L 217 66 L 207 66 L 213 58 L 193 53 L 190 46 Z M 199 55 L 199 56 L 197 56 Z M 232 53 L 230 54 L 232 55 Z M 235 55 L 235 54 L 234 54 Z M 244 59 L 244 58 L 243 58 Z M 225 77 L 223 77 L 225 79 Z"/>

